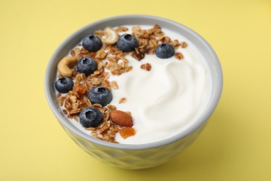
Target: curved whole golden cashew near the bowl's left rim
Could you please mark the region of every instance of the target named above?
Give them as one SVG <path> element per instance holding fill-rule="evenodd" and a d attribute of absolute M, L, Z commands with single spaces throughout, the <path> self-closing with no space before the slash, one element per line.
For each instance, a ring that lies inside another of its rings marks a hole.
<path fill-rule="evenodd" d="M 73 56 L 65 56 L 58 63 L 58 72 L 63 77 L 72 77 L 71 68 L 73 68 L 74 65 L 76 65 L 76 63 L 77 63 L 77 58 Z"/>

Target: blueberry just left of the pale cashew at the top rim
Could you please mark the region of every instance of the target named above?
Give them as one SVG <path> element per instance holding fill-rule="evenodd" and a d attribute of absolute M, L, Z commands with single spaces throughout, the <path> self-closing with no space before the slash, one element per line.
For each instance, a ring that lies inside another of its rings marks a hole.
<path fill-rule="evenodd" d="M 99 49 L 101 49 L 101 46 L 103 45 L 101 43 L 101 39 L 94 35 L 85 36 L 83 38 L 83 48 L 88 50 L 88 52 L 97 52 Z"/>

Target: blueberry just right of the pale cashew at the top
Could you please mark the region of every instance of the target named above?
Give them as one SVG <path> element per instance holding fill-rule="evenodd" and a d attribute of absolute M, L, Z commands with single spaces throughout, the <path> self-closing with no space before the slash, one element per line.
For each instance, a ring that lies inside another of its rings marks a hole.
<path fill-rule="evenodd" d="M 130 34 L 124 34 L 117 40 L 117 48 L 123 52 L 131 52 L 138 47 L 138 41 Z"/>

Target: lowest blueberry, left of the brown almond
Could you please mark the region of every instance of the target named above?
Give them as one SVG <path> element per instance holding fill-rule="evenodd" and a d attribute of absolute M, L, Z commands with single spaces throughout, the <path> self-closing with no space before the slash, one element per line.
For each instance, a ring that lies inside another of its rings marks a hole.
<path fill-rule="evenodd" d="M 104 117 L 98 109 L 88 107 L 81 111 L 79 119 L 83 127 L 97 127 L 104 120 Z"/>

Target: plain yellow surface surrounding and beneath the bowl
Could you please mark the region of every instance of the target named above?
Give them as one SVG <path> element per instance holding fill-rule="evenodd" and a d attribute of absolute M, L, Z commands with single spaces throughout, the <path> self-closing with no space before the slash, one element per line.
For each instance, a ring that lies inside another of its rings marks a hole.
<path fill-rule="evenodd" d="M 51 54 L 85 24 L 147 14 L 185 24 L 215 49 L 220 104 L 170 162 L 125 171 L 87 155 L 44 96 Z M 0 180 L 271 180 L 271 1 L 0 1 Z"/>

